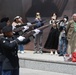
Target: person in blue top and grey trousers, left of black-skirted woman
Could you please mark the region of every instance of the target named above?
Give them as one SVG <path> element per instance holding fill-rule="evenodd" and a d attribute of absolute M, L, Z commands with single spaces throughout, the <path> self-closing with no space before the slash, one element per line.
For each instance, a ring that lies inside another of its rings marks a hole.
<path fill-rule="evenodd" d="M 38 27 L 41 27 L 43 25 L 41 15 L 39 12 L 36 13 L 36 18 L 35 18 L 35 23 L 36 26 L 34 27 L 35 29 Z M 42 54 L 42 34 L 43 31 L 41 31 L 38 35 L 35 36 L 34 39 L 34 53 L 41 53 Z"/>

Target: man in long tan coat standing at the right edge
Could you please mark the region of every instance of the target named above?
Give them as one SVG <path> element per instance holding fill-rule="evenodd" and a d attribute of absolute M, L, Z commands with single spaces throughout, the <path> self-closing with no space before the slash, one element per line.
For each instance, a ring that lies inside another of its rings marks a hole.
<path fill-rule="evenodd" d="M 76 49 L 76 13 L 72 16 L 73 20 L 69 21 L 67 26 L 68 54 Z"/>

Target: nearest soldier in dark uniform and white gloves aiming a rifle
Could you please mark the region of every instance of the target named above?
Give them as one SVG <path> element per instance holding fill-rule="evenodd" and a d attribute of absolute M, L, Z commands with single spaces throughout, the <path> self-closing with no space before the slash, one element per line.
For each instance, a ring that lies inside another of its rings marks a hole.
<path fill-rule="evenodd" d="M 40 32 L 39 30 L 34 31 L 37 34 Z M 2 32 L 4 36 L 0 38 L 0 49 L 2 55 L 5 56 L 2 63 L 2 75 L 19 75 L 18 44 L 23 42 L 27 44 L 27 39 L 23 36 L 15 38 L 13 36 L 12 26 L 5 26 Z"/>

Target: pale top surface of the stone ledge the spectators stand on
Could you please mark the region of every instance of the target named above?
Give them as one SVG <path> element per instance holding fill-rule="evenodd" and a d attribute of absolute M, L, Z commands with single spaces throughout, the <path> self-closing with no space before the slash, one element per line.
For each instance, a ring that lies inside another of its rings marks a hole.
<path fill-rule="evenodd" d="M 51 55 L 50 53 L 43 54 L 33 54 L 34 51 L 25 51 L 24 54 L 18 54 L 19 58 L 23 59 L 33 59 L 41 61 L 54 61 L 54 62 L 64 62 L 64 57 L 59 57 L 58 55 Z"/>

